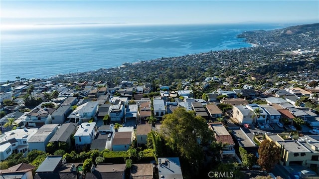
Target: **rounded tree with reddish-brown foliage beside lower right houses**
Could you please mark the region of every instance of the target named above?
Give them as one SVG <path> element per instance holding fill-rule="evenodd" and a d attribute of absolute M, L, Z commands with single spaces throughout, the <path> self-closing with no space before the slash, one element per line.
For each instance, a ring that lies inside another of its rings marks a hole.
<path fill-rule="evenodd" d="M 262 170 L 270 172 L 280 160 L 279 147 L 275 142 L 263 140 L 258 149 L 259 159 L 257 160 Z"/>

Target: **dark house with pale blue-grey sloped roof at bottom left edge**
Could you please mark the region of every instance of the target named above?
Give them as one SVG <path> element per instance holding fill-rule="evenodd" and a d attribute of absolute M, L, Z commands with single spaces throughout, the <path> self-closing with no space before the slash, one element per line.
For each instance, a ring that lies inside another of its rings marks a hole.
<path fill-rule="evenodd" d="M 62 156 L 47 156 L 35 171 L 34 179 L 83 179 L 79 163 L 67 164 Z"/>

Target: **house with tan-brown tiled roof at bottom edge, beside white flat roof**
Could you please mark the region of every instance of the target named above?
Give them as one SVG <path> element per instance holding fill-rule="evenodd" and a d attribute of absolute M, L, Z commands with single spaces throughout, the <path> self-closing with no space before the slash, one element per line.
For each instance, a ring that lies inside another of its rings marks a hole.
<path fill-rule="evenodd" d="M 133 164 L 130 179 L 154 179 L 153 164 Z"/>

